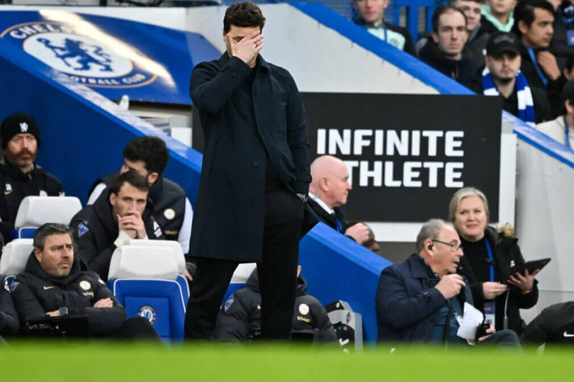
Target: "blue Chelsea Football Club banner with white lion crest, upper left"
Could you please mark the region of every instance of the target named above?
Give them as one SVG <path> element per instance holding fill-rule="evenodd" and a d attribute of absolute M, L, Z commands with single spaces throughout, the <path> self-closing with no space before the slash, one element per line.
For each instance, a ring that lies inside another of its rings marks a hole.
<path fill-rule="evenodd" d="M 220 56 L 197 33 L 60 10 L 0 12 L 4 44 L 108 99 L 180 105 L 191 105 L 193 66 Z"/>

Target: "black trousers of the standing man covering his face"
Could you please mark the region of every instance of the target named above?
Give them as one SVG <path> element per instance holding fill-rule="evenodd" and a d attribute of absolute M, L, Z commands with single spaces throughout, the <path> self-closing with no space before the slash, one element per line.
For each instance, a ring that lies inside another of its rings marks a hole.
<path fill-rule="evenodd" d="M 297 288 L 303 201 L 285 189 L 265 194 L 261 290 L 261 337 L 290 339 Z M 225 237 L 222 237 L 225 240 Z M 237 262 L 197 259 L 186 310 L 186 339 L 210 339 Z"/>

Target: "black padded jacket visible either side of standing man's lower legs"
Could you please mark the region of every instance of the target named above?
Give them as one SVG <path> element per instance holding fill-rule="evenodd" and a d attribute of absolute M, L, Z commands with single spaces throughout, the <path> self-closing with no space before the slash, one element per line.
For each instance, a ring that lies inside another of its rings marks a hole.
<path fill-rule="evenodd" d="M 307 282 L 297 279 L 297 298 L 293 312 L 293 332 L 314 332 L 319 342 L 337 342 L 337 335 L 323 305 L 313 296 L 305 294 Z M 253 338 L 261 330 L 261 293 L 257 269 L 244 288 L 233 293 L 223 306 L 215 323 L 213 339 L 240 342 Z"/>

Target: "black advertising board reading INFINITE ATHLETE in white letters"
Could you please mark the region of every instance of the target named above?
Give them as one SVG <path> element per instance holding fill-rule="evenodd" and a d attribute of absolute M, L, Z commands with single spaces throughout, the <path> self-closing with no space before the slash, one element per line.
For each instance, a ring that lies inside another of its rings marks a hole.
<path fill-rule="evenodd" d="M 333 155 L 349 168 L 347 220 L 447 218 L 451 196 L 464 186 L 483 191 L 490 220 L 498 220 L 500 97 L 301 96 L 311 159 Z M 193 118 L 193 147 L 202 151 L 198 119 Z"/>

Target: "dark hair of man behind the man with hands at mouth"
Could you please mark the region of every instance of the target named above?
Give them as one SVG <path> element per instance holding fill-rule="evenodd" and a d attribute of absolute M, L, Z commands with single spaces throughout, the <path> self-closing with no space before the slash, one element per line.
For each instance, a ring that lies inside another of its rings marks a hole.
<path fill-rule="evenodd" d="M 123 157 L 133 162 L 140 160 L 145 163 L 147 172 L 162 175 L 167 166 L 169 151 L 159 137 L 137 137 L 125 145 Z"/>

